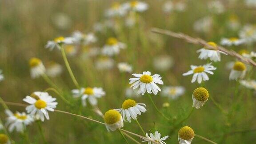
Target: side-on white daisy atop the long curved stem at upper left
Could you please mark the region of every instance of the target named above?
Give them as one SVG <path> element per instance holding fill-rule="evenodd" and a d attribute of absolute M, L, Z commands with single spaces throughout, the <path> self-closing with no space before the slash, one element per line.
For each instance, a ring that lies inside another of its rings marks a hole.
<path fill-rule="evenodd" d="M 50 50 L 53 50 L 53 48 L 57 47 L 57 44 L 73 44 L 73 38 L 72 37 L 57 37 L 54 40 L 49 40 L 47 44 L 45 45 L 45 48 L 49 48 Z M 59 48 L 59 47 L 57 47 Z"/>

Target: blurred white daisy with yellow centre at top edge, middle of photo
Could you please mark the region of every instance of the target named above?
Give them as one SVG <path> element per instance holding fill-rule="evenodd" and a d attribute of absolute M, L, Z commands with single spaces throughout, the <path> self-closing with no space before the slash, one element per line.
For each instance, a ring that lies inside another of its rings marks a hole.
<path fill-rule="evenodd" d="M 130 2 L 124 3 L 123 7 L 125 10 L 144 12 L 148 9 L 148 4 L 139 0 L 132 0 Z"/>

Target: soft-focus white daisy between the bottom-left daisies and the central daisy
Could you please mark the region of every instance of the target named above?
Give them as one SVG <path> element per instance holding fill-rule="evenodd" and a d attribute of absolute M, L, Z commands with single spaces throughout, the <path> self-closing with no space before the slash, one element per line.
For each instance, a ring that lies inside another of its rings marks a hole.
<path fill-rule="evenodd" d="M 97 98 L 105 96 L 105 92 L 102 88 L 81 88 L 73 89 L 72 94 L 74 97 L 80 97 L 82 99 L 83 106 L 86 106 L 86 99 L 88 99 L 91 105 L 96 105 L 98 103 Z"/>

